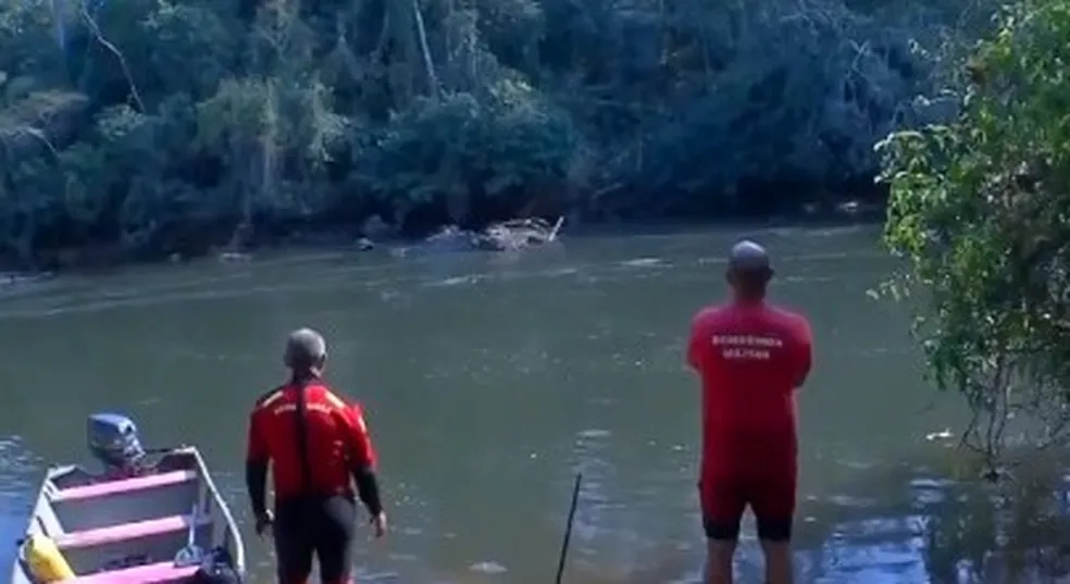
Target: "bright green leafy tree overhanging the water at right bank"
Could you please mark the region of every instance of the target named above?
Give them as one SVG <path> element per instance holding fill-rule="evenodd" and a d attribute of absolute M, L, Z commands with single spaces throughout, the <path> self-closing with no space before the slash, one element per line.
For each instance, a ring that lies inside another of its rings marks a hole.
<path fill-rule="evenodd" d="M 885 241 L 907 262 L 894 289 L 921 293 L 933 378 L 966 396 L 963 439 L 992 463 L 1008 424 L 1050 444 L 1070 422 L 1068 62 L 1070 2 L 1008 8 L 959 117 L 881 145 Z"/>

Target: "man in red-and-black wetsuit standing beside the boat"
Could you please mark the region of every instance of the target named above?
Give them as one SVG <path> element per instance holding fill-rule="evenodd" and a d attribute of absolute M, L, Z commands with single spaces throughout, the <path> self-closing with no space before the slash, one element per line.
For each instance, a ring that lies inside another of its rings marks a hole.
<path fill-rule="evenodd" d="M 272 527 L 279 584 L 306 584 L 313 556 L 323 584 L 349 582 L 357 522 L 353 482 L 375 536 L 386 533 L 364 417 L 359 405 L 347 403 L 322 381 L 326 359 L 319 333 L 290 333 L 285 355 L 290 380 L 257 400 L 249 419 L 246 485 L 257 533 Z M 266 505 L 269 465 L 274 514 Z"/>

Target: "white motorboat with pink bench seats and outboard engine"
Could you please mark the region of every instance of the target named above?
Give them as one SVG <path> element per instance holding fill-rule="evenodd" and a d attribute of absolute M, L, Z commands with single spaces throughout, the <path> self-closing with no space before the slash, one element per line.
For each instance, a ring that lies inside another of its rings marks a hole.
<path fill-rule="evenodd" d="M 48 470 L 26 535 L 51 539 L 77 584 L 241 582 L 245 546 L 226 502 L 195 447 L 146 452 L 134 422 L 89 418 L 89 447 L 104 463 L 92 473 Z M 12 584 L 40 584 L 25 551 Z"/>

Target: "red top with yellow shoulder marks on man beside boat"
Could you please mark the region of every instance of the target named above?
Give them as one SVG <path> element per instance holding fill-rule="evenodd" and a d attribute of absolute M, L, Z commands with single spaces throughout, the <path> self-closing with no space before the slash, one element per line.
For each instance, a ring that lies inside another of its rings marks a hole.
<path fill-rule="evenodd" d="M 247 458 L 270 461 L 275 498 L 301 495 L 350 495 L 352 471 L 374 465 L 375 450 L 361 408 L 322 383 L 304 387 L 304 420 L 311 485 L 306 490 L 297 434 L 297 385 L 287 385 L 257 401 L 249 417 Z"/>

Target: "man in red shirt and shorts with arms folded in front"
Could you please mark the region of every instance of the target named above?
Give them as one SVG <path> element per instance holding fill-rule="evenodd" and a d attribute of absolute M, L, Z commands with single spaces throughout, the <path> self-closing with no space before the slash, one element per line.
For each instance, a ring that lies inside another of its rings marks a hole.
<path fill-rule="evenodd" d="M 766 302 L 766 249 L 736 244 L 732 300 L 692 322 L 687 361 L 702 381 L 699 480 L 708 542 L 706 584 L 731 584 L 739 521 L 750 507 L 766 557 L 766 584 L 791 584 L 797 449 L 795 390 L 810 371 L 807 320 Z"/>

